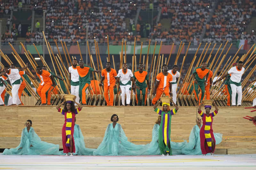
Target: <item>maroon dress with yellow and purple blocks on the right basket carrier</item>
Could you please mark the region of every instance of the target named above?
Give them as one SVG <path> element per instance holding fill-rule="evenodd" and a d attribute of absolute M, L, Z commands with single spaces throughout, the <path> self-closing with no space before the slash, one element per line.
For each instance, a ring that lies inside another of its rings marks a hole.
<path fill-rule="evenodd" d="M 213 117 L 218 113 L 218 111 L 214 110 L 207 117 L 202 110 L 198 111 L 203 120 L 203 126 L 200 129 L 200 143 L 202 154 L 214 153 L 215 147 L 212 148 L 212 139 L 216 143 L 213 130 L 212 130 L 212 122 Z"/>

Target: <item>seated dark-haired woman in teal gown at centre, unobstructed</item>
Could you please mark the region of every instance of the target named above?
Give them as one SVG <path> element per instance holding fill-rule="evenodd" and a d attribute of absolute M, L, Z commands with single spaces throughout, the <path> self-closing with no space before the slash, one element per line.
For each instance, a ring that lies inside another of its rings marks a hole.
<path fill-rule="evenodd" d="M 93 155 L 142 155 L 148 149 L 148 145 L 135 145 L 127 140 L 121 124 L 116 123 L 118 116 L 116 114 L 110 119 L 113 123 L 108 124 L 105 136 L 93 151 Z"/>

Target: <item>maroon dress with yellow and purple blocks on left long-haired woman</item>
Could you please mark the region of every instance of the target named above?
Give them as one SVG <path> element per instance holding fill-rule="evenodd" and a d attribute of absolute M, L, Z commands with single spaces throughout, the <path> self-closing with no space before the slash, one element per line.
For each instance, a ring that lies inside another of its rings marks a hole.
<path fill-rule="evenodd" d="M 65 116 L 65 123 L 63 124 L 62 127 L 62 145 L 63 145 L 63 152 L 68 153 L 70 152 L 70 135 L 72 135 L 72 142 L 73 142 L 73 152 L 76 152 L 76 147 L 75 147 L 75 141 L 74 141 L 74 126 L 75 126 L 75 117 L 76 114 L 81 111 L 80 108 L 77 108 L 75 112 L 66 112 L 63 109 L 59 109 L 58 112 L 60 112 L 62 115 Z"/>

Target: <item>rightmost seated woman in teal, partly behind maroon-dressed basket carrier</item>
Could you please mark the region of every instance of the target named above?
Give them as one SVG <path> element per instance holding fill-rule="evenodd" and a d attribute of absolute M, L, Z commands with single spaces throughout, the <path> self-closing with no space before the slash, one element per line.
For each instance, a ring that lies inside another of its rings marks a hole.
<path fill-rule="evenodd" d="M 181 153 L 184 155 L 202 155 L 201 146 L 200 146 L 200 129 L 202 127 L 201 118 L 196 118 L 196 125 L 190 132 L 189 142 L 181 149 Z M 216 145 L 222 141 L 221 133 L 213 133 Z M 210 153 L 209 153 L 210 154 Z"/>

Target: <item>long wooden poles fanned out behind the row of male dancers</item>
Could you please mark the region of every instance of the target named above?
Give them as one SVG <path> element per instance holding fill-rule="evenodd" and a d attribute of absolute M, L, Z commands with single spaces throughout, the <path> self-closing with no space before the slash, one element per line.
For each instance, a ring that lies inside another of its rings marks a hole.
<path fill-rule="evenodd" d="M 43 35 L 44 35 L 44 32 L 43 32 Z M 58 89 L 59 89 L 58 90 L 58 94 L 53 94 L 52 93 L 52 98 L 51 98 L 52 99 L 52 105 L 57 105 L 57 104 L 59 104 L 60 102 L 63 101 L 64 91 L 67 91 L 67 93 L 70 94 L 70 92 L 69 92 L 70 81 L 69 81 L 68 67 L 70 65 L 72 66 L 72 61 L 71 61 L 71 57 L 70 57 L 70 55 L 68 53 L 68 48 L 67 48 L 67 45 L 66 45 L 65 42 L 60 41 L 61 47 L 62 47 L 63 52 L 64 52 L 64 56 L 65 56 L 64 58 L 62 58 L 62 56 L 60 54 L 59 46 L 58 46 L 56 40 L 54 40 L 54 42 L 55 42 L 55 45 L 56 45 L 57 50 L 58 50 L 57 54 L 53 53 L 52 46 L 46 40 L 45 36 L 44 36 L 44 41 L 46 43 L 47 50 L 49 52 L 49 56 L 50 56 L 50 59 L 51 59 L 51 63 L 50 64 L 52 64 L 52 67 L 54 69 L 54 73 L 57 75 L 57 71 L 59 71 L 60 77 L 64 78 L 64 85 L 65 85 L 66 90 L 62 89 L 62 87 L 60 86 L 60 81 L 57 80 L 57 86 L 58 86 Z M 107 36 L 107 42 L 108 42 L 108 36 Z M 34 60 L 34 58 L 31 55 L 31 53 L 26 50 L 25 46 L 22 43 L 20 43 L 20 44 L 21 44 L 22 48 L 25 51 L 25 56 L 27 57 L 30 65 L 32 66 L 32 69 L 36 70 L 36 66 L 38 66 L 38 64 Z M 107 44 L 108 44 L 108 57 L 107 57 L 107 61 L 110 62 L 109 43 L 107 43 Z M 134 69 L 135 70 L 137 69 L 137 64 L 139 64 L 140 62 L 143 61 L 142 63 L 145 66 L 145 70 L 148 71 L 148 62 L 150 64 L 150 69 L 149 69 L 149 72 L 148 72 L 148 76 L 149 76 L 149 80 L 151 81 L 150 82 L 151 90 L 148 91 L 148 96 L 147 96 L 147 105 L 148 106 L 151 105 L 151 100 L 154 97 L 154 95 L 152 93 L 153 93 L 153 89 L 154 89 L 154 86 L 155 86 L 155 83 L 156 83 L 156 75 L 159 74 L 159 70 L 161 72 L 162 65 L 163 64 L 167 64 L 168 65 L 170 60 L 173 61 L 172 62 L 173 64 L 177 64 L 178 60 L 179 60 L 179 57 L 180 57 L 180 54 L 181 54 L 182 50 L 185 47 L 185 43 L 182 43 L 182 41 L 181 41 L 180 42 L 180 46 L 178 48 L 177 55 L 176 55 L 175 58 L 172 59 L 171 55 L 172 55 L 173 47 L 174 47 L 174 44 L 172 44 L 172 47 L 170 49 L 169 57 L 165 57 L 164 58 L 164 54 L 161 55 L 162 41 L 160 42 L 160 48 L 159 48 L 158 54 L 156 54 L 157 42 L 155 42 L 153 54 L 151 55 L 152 56 L 151 60 L 149 60 L 148 58 L 149 58 L 150 44 L 151 44 L 151 40 L 149 40 L 147 55 L 146 56 L 143 55 L 143 59 L 142 59 L 142 47 L 143 47 L 142 45 L 143 45 L 143 42 L 141 42 L 140 54 L 139 54 L 140 57 L 136 58 L 136 54 L 135 54 L 136 38 L 134 38 L 134 47 L 133 47 L 133 55 L 132 55 L 132 68 L 131 68 L 132 73 L 134 73 Z M 186 53 L 183 56 L 183 60 L 182 60 L 182 63 L 181 63 L 180 70 L 178 70 L 180 73 L 182 73 L 182 70 L 184 70 L 184 64 L 186 63 L 186 57 L 187 57 L 187 54 L 188 54 L 188 49 L 189 49 L 190 44 L 191 43 L 189 42 L 188 47 L 186 49 Z M 14 52 L 14 53 L 12 53 L 12 55 L 18 61 L 18 63 L 20 64 L 20 67 L 24 67 L 25 63 L 21 59 L 20 55 L 16 52 L 16 50 L 14 49 L 14 47 L 11 44 L 9 44 L 9 45 L 12 47 L 12 50 Z M 37 52 L 37 54 L 38 54 L 38 56 L 39 56 L 39 58 L 40 58 L 40 60 L 42 62 L 42 64 L 39 64 L 39 65 L 46 66 L 47 69 L 49 71 L 51 71 L 51 69 L 50 69 L 50 67 L 48 65 L 49 63 L 47 64 L 47 62 L 44 60 L 42 55 L 40 55 L 40 53 L 38 52 L 35 44 L 33 44 L 33 45 L 34 45 L 34 47 L 36 49 L 36 52 Z M 213 53 L 213 50 L 216 47 L 216 44 L 214 44 L 214 46 L 212 47 L 212 50 L 211 50 L 210 54 L 207 55 L 208 50 L 209 50 L 209 48 L 210 48 L 210 46 L 212 44 L 209 43 L 209 45 L 208 45 L 208 43 L 206 43 L 204 48 L 203 48 L 202 53 L 200 54 L 200 57 L 197 58 L 197 55 L 199 55 L 198 51 L 199 51 L 201 45 L 202 44 L 200 43 L 198 48 L 197 48 L 197 50 L 196 50 L 194 58 L 192 59 L 192 62 L 190 62 L 190 65 L 189 65 L 189 67 L 188 67 L 188 69 L 186 71 L 185 77 L 183 77 L 182 83 L 180 83 L 180 79 L 177 82 L 177 85 L 180 88 L 179 90 L 177 90 L 177 104 L 179 106 L 196 106 L 195 95 L 193 93 L 189 94 L 188 92 L 194 88 L 193 84 L 192 84 L 192 80 L 193 80 L 192 79 L 192 77 L 193 77 L 192 76 L 192 72 L 194 71 L 195 67 L 201 66 L 203 61 L 206 60 L 207 63 L 208 62 L 211 63 L 209 68 L 213 71 L 213 76 L 212 76 L 212 79 L 213 79 L 213 77 L 215 77 L 215 76 L 220 77 L 221 74 L 227 73 L 227 71 L 232 67 L 232 64 L 234 62 L 239 61 L 239 60 L 246 61 L 244 63 L 244 67 L 245 67 L 245 71 L 247 71 L 251 67 L 252 63 L 256 59 L 256 54 L 254 54 L 255 51 L 256 51 L 255 44 L 241 58 L 239 56 L 237 56 L 237 54 L 240 51 L 240 49 L 242 48 L 242 46 L 240 46 L 240 48 L 237 50 L 237 52 L 236 52 L 236 54 L 234 56 L 229 56 L 229 57 L 227 56 L 228 52 L 230 51 L 230 49 L 232 47 L 232 44 L 230 44 L 230 46 L 228 48 L 226 48 L 227 45 L 228 45 L 228 41 L 225 43 L 225 45 L 222 48 L 222 50 L 220 50 L 221 47 L 222 47 L 222 44 L 220 44 L 220 46 L 219 46 L 219 48 L 218 48 L 218 50 L 215 53 L 213 58 L 212 58 L 212 53 Z M 98 42 L 96 40 L 94 40 L 94 46 L 95 46 L 95 49 L 96 49 L 95 56 L 96 56 L 97 65 L 93 61 L 93 57 L 92 57 L 92 55 L 90 53 L 89 43 L 87 41 L 87 48 L 88 48 L 89 59 L 90 59 L 90 67 L 94 68 L 95 70 L 96 70 L 96 67 L 97 67 L 98 70 L 103 70 L 103 65 L 102 65 L 102 61 L 101 61 L 101 58 L 100 58 L 99 45 L 98 45 Z M 81 53 L 78 41 L 77 41 L 77 47 L 79 49 L 80 58 L 81 58 L 81 60 L 83 60 L 82 53 Z M 226 51 L 225 54 L 223 54 L 225 49 L 227 49 L 227 51 Z M 126 56 L 126 41 L 124 39 L 122 39 L 122 41 L 121 41 L 121 50 L 120 51 L 121 51 L 120 52 L 120 65 L 119 65 L 118 69 L 122 69 L 123 63 L 127 63 L 127 60 L 126 60 L 126 58 L 127 58 L 127 56 Z M 3 57 L 3 59 L 9 65 L 12 64 L 12 61 L 1 50 L 0 50 L 0 55 Z M 156 57 L 156 55 L 157 55 L 157 57 Z M 249 56 L 249 58 L 247 59 L 248 56 Z M 72 59 L 74 59 L 73 56 L 72 56 Z M 227 62 L 224 62 L 225 59 L 228 59 Z M 66 60 L 67 65 L 64 64 L 63 60 Z M 150 63 L 150 61 L 151 61 L 151 63 Z M 114 56 L 113 55 L 112 55 L 112 62 L 113 62 L 114 69 L 116 69 L 115 68 L 115 60 L 114 60 Z M 0 66 L 3 67 L 3 64 L 0 63 Z M 57 69 L 56 69 L 55 66 L 57 67 Z M 169 67 L 169 69 L 171 69 L 171 68 Z M 250 70 L 249 74 L 247 74 L 247 76 L 244 78 L 244 81 L 242 82 L 242 87 L 246 89 L 243 92 L 243 103 L 242 103 L 243 106 L 250 106 L 251 105 L 250 102 L 252 102 L 252 100 L 256 97 L 256 90 L 255 89 L 250 89 L 250 87 L 251 87 L 251 85 L 253 83 L 246 83 L 252 77 L 252 74 L 254 73 L 255 69 L 256 69 L 256 66 L 254 66 Z M 26 71 L 31 73 L 31 71 L 29 69 L 26 69 Z M 220 71 L 221 74 L 217 75 L 218 71 Z M 87 97 L 88 105 L 97 105 L 97 106 L 106 105 L 106 100 L 105 100 L 105 96 L 104 96 L 104 90 L 103 90 L 103 88 L 101 86 L 99 86 L 100 73 L 94 73 L 93 72 L 92 73 L 92 79 L 93 79 L 93 83 L 90 84 L 90 88 L 91 89 L 92 88 L 100 89 L 100 93 L 98 93 L 97 90 L 96 90 L 96 94 L 94 94 L 93 91 L 88 90 L 88 92 L 90 94 L 90 95 L 86 96 Z M 35 87 L 37 88 L 39 83 L 37 81 L 34 81 L 34 80 L 31 80 L 31 81 L 35 85 Z M 28 87 L 27 89 L 29 90 L 29 92 L 32 94 L 32 97 L 36 98 L 36 100 L 37 100 L 36 105 L 40 105 L 40 103 L 41 103 L 40 102 L 40 97 L 32 90 L 30 84 L 27 84 L 27 87 Z M 117 92 L 118 92 L 118 89 L 119 89 L 119 87 L 117 87 Z M 219 81 L 215 86 L 212 86 L 211 89 L 210 89 L 211 99 L 215 100 L 216 103 L 219 106 L 226 106 L 226 103 L 227 103 L 227 95 L 225 95 L 223 93 L 223 89 L 224 89 L 224 81 Z M 188 91 L 188 92 L 186 92 L 186 91 Z M 9 92 L 9 94 L 10 94 L 10 92 Z M 133 94 L 133 91 L 131 92 L 131 95 L 132 95 L 131 96 L 131 99 L 132 99 L 131 103 L 132 103 L 132 105 L 136 105 L 136 101 L 135 101 L 136 98 L 135 98 L 135 94 Z M 142 99 L 142 97 L 140 97 L 140 99 Z M 120 105 L 120 100 L 121 100 L 120 99 L 120 95 L 119 95 L 119 93 L 117 93 L 115 95 L 115 98 L 114 98 L 114 101 L 115 101 L 114 105 Z"/>

